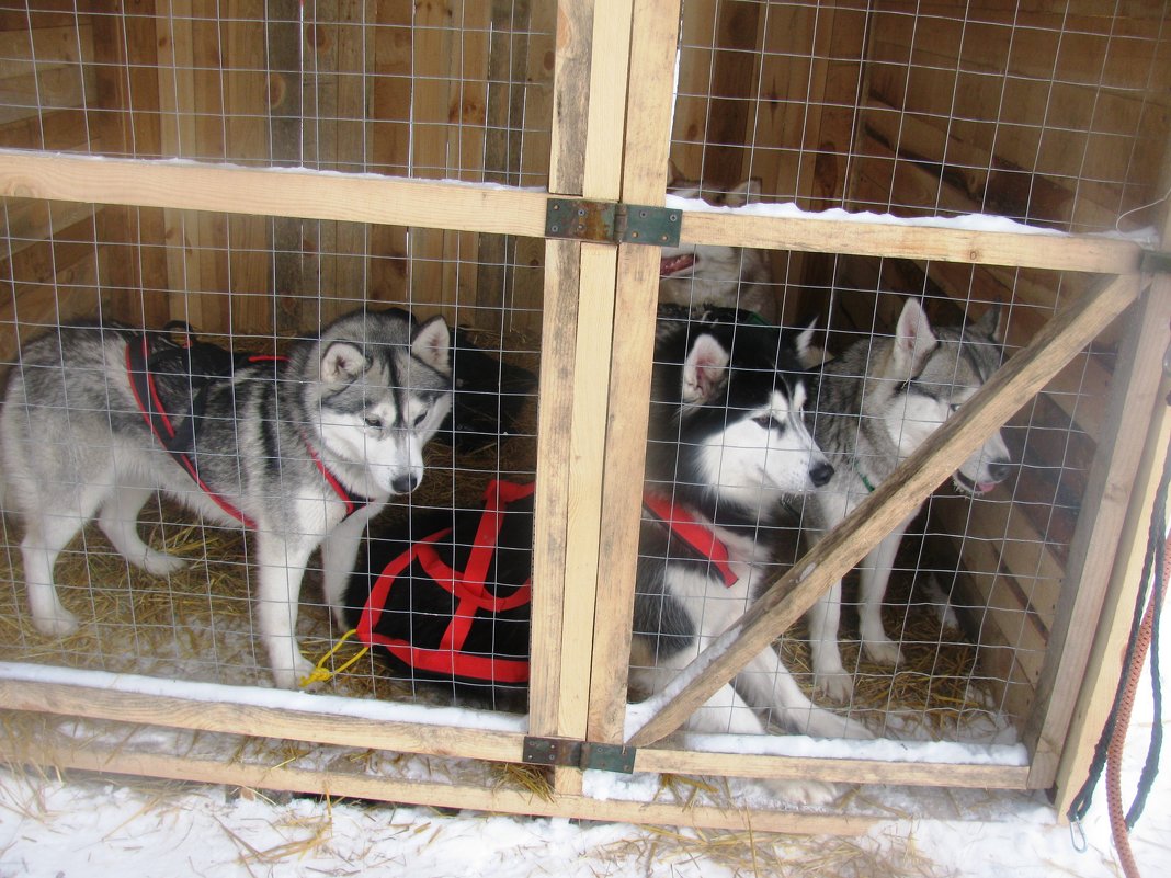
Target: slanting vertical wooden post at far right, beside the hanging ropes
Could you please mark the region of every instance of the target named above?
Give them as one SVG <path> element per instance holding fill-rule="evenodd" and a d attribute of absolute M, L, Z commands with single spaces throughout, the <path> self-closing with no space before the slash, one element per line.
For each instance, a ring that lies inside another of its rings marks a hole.
<path fill-rule="evenodd" d="M 1171 151 L 1163 167 L 1158 192 L 1171 181 Z M 1171 249 L 1171 208 L 1164 211 L 1159 246 L 1163 252 Z M 1112 623 L 1134 605 L 1149 495 L 1160 475 L 1158 464 L 1148 462 L 1141 478 L 1143 458 L 1166 447 L 1165 430 L 1157 427 L 1167 418 L 1163 357 L 1171 342 L 1169 330 L 1171 275 L 1160 273 L 1130 309 L 1130 328 L 1111 379 L 1111 386 L 1125 392 L 1110 395 L 1087 502 L 1069 547 L 1054 636 L 1025 730 L 1025 742 L 1034 750 L 1029 786 L 1043 789 L 1056 782 L 1062 817 L 1084 780 L 1122 670 L 1129 625 Z M 1152 451 L 1134 439 L 1139 435 L 1162 441 Z M 1097 658 L 1093 664 L 1091 650 Z"/>

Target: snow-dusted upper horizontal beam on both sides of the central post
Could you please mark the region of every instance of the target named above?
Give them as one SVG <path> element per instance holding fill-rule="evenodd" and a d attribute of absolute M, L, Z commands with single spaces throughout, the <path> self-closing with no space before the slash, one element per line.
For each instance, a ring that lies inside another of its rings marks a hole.
<path fill-rule="evenodd" d="M 545 236 L 548 193 L 306 169 L 239 167 L 0 150 L 0 196 Z M 1067 272 L 1138 270 L 1142 248 L 1096 235 L 1027 234 L 820 214 L 686 211 L 684 243 L 849 253 Z"/>

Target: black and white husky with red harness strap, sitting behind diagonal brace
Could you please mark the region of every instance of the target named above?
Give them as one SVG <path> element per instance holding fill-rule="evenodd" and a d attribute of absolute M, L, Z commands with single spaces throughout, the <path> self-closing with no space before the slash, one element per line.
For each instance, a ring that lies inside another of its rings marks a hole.
<path fill-rule="evenodd" d="M 660 321 L 655 356 L 631 656 L 631 682 L 649 693 L 755 599 L 781 500 L 834 474 L 804 423 L 804 373 L 789 334 L 711 314 Z M 814 706 L 772 647 L 687 727 L 759 734 L 758 711 L 799 733 L 870 736 Z M 817 797 L 816 787 L 801 795 Z"/>

